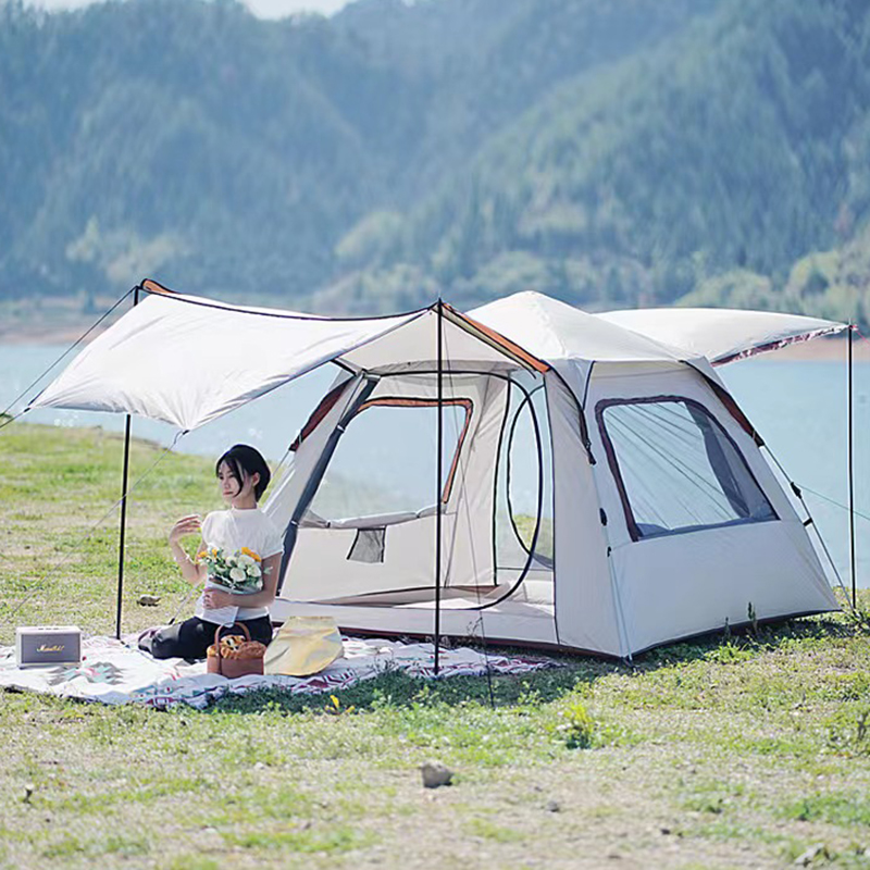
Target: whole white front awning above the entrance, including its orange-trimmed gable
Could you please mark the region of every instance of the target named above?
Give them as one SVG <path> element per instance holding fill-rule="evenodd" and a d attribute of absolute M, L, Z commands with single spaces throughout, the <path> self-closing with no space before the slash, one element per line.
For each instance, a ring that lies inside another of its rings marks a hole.
<path fill-rule="evenodd" d="M 327 362 L 352 370 L 437 357 L 435 308 L 383 318 L 323 318 L 231 306 L 151 281 L 146 298 L 94 339 L 30 408 L 130 413 L 190 431 Z M 445 361 L 547 365 L 444 306 Z"/>

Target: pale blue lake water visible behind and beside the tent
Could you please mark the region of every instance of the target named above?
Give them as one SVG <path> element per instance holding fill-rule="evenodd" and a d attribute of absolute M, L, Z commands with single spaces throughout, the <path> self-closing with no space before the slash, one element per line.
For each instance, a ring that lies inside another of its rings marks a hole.
<path fill-rule="evenodd" d="M 0 410 L 65 349 L 65 345 L 0 345 Z M 69 359 L 52 374 L 60 372 Z M 790 476 L 805 487 L 807 504 L 833 554 L 837 570 L 848 583 L 848 514 L 809 492 L 816 490 L 841 505 L 847 504 L 845 363 L 778 361 L 770 355 L 726 365 L 719 369 L 719 373 Z M 260 448 L 266 457 L 277 460 L 285 455 L 287 445 L 323 396 L 334 374 L 328 368 L 312 372 L 186 435 L 176 449 L 213 457 L 232 444 L 247 442 Z M 39 386 L 45 386 L 50 377 Z M 855 364 L 854 381 L 855 505 L 859 511 L 870 515 L 867 438 L 870 432 L 870 363 Z M 32 398 L 39 386 L 29 390 L 26 398 Z M 22 406 L 20 402 L 13 411 L 21 410 Z M 99 425 L 115 431 L 124 425 L 121 414 L 52 409 L 32 411 L 24 421 L 55 426 Z M 171 444 L 176 435 L 172 426 L 138 418 L 134 419 L 133 432 L 138 437 L 164 445 Z M 401 486 L 413 467 L 412 462 L 399 456 L 376 464 L 378 469 L 366 470 L 369 483 L 390 488 Z M 95 513 L 99 507 L 95 506 Z M 870 521 L 856 517 L 855 529 L 858 585 L 867 587 L 870 586 Z"/>

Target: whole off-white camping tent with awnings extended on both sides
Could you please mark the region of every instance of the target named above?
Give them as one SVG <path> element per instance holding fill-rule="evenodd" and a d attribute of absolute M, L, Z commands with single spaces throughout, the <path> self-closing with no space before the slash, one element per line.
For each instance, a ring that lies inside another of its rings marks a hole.
<path fill-rule="evenodd" d="M 348 631 L 630 657 L 749 613 L 838 608 L 807 518 L 710 359 L 844 324 L 714 310 L 594 315 L 533 293 L 468 314 L 438 301 L 327 319 L 154 282 L 139 289 L 144 301 L 32 407 L 189 431 L 313 368 L 336 369 L 288 433 L 293 462 L 264 505 L 285 530 L 276 622 L 323 614 Z M 375 420 L 386 463 L 424 486 L 396 495 L 366 483 L 373 469 L 355 445 Z M 327 497 L 339 463 L 356 472 L 356 510 Z M 521 464 L 523 510 L 512 501 Z"/>

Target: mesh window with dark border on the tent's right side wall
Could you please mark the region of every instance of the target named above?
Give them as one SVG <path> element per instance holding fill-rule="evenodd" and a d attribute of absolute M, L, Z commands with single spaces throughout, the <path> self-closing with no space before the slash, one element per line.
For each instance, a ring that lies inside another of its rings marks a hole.
<path fill-rule="evenodd" d="M 737 446 L 698 402 L 602 401 L 596 415 L 633 539 L 776 519 Z"/>

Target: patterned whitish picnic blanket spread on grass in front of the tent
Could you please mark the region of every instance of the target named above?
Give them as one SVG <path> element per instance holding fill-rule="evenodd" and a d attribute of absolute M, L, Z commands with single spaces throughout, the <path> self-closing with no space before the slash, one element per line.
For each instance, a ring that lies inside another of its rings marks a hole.
<path fill-rule="evenodd" d="M 281 688 L 294 695 L 335 692 L 389 670 L 411 676 L 435 676 L 432 644 L 402 644 L 381 638 L 343 637 L 344 655 L 312 676 L 225 676 L 206 673 L 206 662 L 151 658 L 124 641 L 95 636 L 82 642 L 82 663 L 16 668 L 14 647 L 0 647 L 0 687 L 40 692 L 102 704 L 144 704 L 167 709 L 187 704 L 202 709 L 227 694 Z M 554 667 L 555 661 L 484 654 L 462 647 L 439 652 L 439 679 L 459 675 L 520 674 Z"/>

